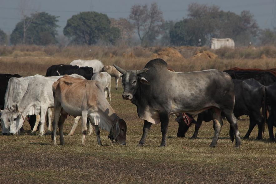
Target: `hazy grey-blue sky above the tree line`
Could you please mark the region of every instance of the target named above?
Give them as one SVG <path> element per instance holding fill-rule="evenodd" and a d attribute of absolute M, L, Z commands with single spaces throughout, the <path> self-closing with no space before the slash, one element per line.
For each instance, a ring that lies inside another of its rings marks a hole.
<path fill-rule="evenodd" d="M 217 5 L 224 11 L 237 14 L 243 10 L 249 10 L 254 14 L 260 28 L 276 26 L 276 0 L 29 0 L 29 2 L 32 2 L 28 6 L 29 9 L 35 7 L 38 11 L 60 16 L 59 34 L 62 34 L 66 21 L 79 12 L 92 10 L 105 13 L 112 18 L 128 18 L 131 6 L 152 2 L 158 3 L 165 20 L 182 20 L 187 15 L 188 5 L 191 2 L 198 2 Z M 19 5 L 20 0 L 0 0 L 0 29 L 8 34 L 21 19 Z"/>

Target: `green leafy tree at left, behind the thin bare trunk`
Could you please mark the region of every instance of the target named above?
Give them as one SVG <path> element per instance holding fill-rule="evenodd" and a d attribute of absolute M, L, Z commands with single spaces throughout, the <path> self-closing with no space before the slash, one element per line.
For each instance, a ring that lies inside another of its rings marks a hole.
<path fill-rule="evenodd" d="M 57 42 L 57 18 L 58 17 L 46 12 L 37 12 L 31 14 L 31 17 L 24 19 L 30 22 L 25 34 L 25 43 L 36 45 L 55 44 Z M 28 19 L 32 19 L 32 21 Z M 14 45 L 24 43 L 24 20 L 18 22 L 15 29 L 12 31 L 10 41 Z"/>

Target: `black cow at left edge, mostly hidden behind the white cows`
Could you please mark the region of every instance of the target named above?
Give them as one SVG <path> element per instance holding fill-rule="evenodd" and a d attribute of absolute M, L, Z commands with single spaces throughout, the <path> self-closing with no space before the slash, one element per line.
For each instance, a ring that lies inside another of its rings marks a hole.
<path fill-rule="evenodd" d="M 7 86 L 8 86 L 8 82 L 10 80 L 10 78 L 12 77 L 22 77 L 18 74 L 0 74 L 0 108 L 1 110 L 4 109 L 4 104 L 5 104 L 5 94 L 6 94 L 6 90 L 7 90 Z M 0 116 L 1 116 L 1 113 L 0 113 Z M 30 123 L 30 126 L 31 126 L 31 129 L 35 126 L 35 123 L 36 123 L 36 115 L 31 115 L 29 118 L 29 123 Z M 0 123 L 1 125 L 1 123 Z M 21 131 L 23 130 L 23 127 L 22 129 L 20 129 Z"/>

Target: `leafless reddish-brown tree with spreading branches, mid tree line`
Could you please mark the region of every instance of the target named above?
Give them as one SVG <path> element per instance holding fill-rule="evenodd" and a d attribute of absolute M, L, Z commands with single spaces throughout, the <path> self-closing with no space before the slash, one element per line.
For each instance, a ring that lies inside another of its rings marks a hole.
<path fill-rule="evenodd" d="M 143 46 L 148 46 L 160 34 L 160 27 L 164 22 L 163 12 L 159 9 L 156 2 L 148 5 L 134 5 L 131 7 L 129 15 L 137 29 L 138 36 Z"/>

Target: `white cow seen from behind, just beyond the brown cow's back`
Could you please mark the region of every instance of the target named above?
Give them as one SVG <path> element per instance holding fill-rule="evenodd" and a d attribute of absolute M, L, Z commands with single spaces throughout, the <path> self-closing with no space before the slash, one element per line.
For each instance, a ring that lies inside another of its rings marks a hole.
<path fill-rule="evenodd" d="M 92 76 L 91 80 L 97 80 L 99 81 L 103 87 L 104 87 L 104 93 L 105 93 L 105 98 L 107 98 L 107 94 L 109 97 L 109 101 L 111 104 L 111 76 L 107 72 L 100 72 L 96 73 Z"/>

